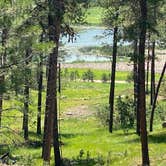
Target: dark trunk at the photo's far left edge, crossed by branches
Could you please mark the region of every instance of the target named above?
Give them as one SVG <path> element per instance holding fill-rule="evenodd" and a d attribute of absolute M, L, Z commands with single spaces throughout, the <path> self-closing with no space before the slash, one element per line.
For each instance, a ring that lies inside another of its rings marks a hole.
<path fill-rule="evenodd" d="M 2 47 L 4 48 L 4 52 L 2 53 L 0 57 L 0 66 L 5 65 L 6 63 L 6 40 L 7 40 L 7 29 L 3 29 L 2 31 Z M 1 121 L 2 121 L 2 110 L 3 110 L 3 93 L 5 89 L 5 75 L 4 73 L 1 73 L 0 75 L 0 127 L 1 127 Z"/>

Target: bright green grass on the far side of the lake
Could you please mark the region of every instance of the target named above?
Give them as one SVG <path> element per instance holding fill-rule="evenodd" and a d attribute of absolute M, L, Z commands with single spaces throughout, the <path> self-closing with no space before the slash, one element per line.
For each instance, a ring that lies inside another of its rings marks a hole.
<path fill-rule="evenodd" d="M 89 25 L 102 25 L 103 9 L 100 7 L 91 7 L 87 10 L 86 22 Z"/>

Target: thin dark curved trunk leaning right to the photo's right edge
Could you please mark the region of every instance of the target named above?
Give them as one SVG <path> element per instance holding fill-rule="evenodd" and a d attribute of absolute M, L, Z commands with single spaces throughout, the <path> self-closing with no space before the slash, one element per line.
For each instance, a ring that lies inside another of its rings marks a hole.
<path fill-rule="evenodd" d="M 161 73 L 161 76 L 160 76 L 160 80 L 159 80 L 158 85 L 157 85 L 154 101 L 153 101 L 152 112 L 151 112 L 151 117 L 150 117 L 150 131 L 153 131 L 154 111 L 155 111 L 155 108 L 156 108 L 157 97 L 158 97 L 159 89 L 160 89 L 160 86 L 161 86 L 161 82 L 162 82 L 163 77 L 164 77 L 165 70 L 166 70 L 166 62 L 164 64 L 164 67 L 163 67 L 163 70 L 162 70 L 162 73 Z"/>

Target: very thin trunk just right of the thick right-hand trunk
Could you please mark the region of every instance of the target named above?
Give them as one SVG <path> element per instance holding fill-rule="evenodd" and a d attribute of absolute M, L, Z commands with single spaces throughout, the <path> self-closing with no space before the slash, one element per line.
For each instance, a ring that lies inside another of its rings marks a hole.
<path fill-rule="evenodd" d="M 148 41 L 148 58 L 147 58 L 147 69 L 146 69 L 146 93 L 149 94 L 149 63 L 150 63 L 150 35 Z"/>

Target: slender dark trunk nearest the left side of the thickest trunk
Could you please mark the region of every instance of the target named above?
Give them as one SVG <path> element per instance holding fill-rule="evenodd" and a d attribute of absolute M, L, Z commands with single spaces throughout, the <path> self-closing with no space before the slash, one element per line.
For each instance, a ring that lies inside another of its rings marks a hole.
<path fill-rule="evenodd" d="M 42 109 L 42 87 L 43 87 L 43 62 L 40 56 L 38 64 L 38 113 L 37 113 L 37 134 L 41 134 L 41 109 Z"/>

